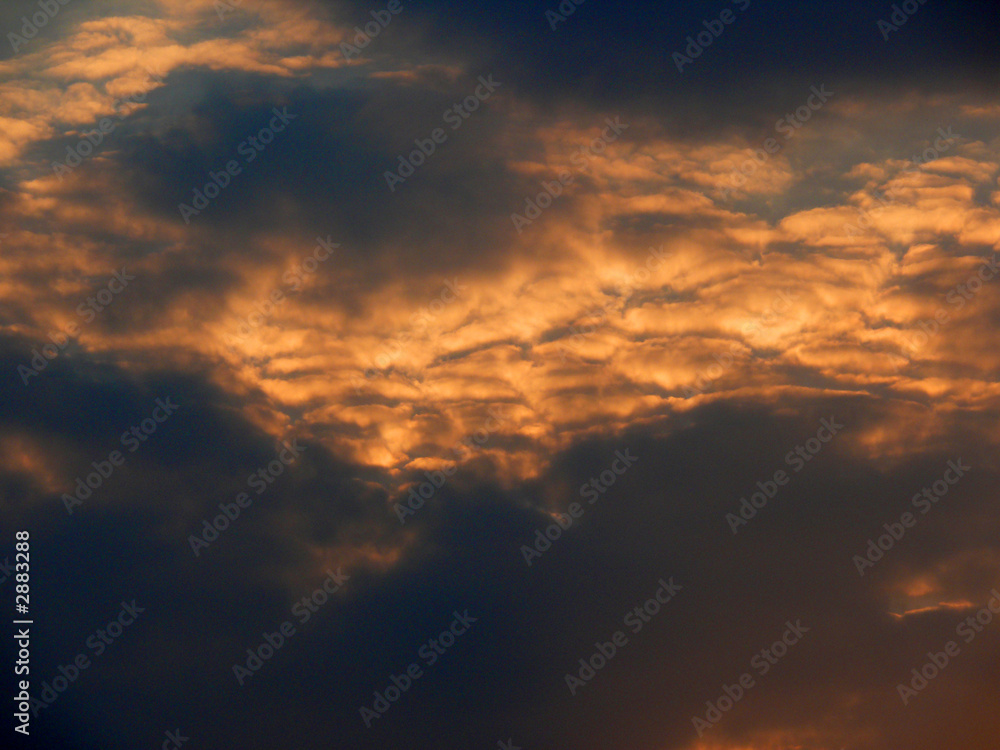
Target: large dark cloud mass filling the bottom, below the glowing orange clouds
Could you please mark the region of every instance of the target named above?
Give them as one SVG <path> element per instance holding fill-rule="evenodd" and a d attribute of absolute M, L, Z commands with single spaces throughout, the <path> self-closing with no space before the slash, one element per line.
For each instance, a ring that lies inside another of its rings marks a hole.
<path fill-rule="evenodd" d="M 33 588 L 44 623 L 35 674 L 54 676 L 86 650 L 88 635 L 122 599 L 148 607 L 37 720 L 46 732 L 65 727 L 67 743 L 89 725 L 85 717 L 100 715 L 114 728 L 88 736 L 122 748 L 175 724 L 192 741 L 226 746 L 321 747 L 336 735 L 355 747 L 458 748 L 511 735 L 524 747 L 687 747 L 691 716 L 704 713 L 723 684 L 754 672 L 751 658 L 781 636 L 786 620 L 801 620 L 808 635 L 712 730 L 716 739 L 791 732 L 820 745 L 932 748 L 956 735 L 979 746 L 990 734 L 986 706 L 948 709 L 965 691 L 985 689 L 978 665 L 997 656 L 989 631 L 963 647 L 968 656 L 956 658 L 917 705 L 904 709 L 895 692 L 926 650 L 954 637 L 965 614 L 894 619 L 899 587 L 917 571 L 952 568 L 950 595 L 978 608 L 992 585 L 974 557 L 953 568 L 989 543 L 976 527 L 996 481 L 989 451 L 958 425 L 951 451 L 891 465 L 859 452 L 859 436 L 889 417 L 864 399 L 802 402 L 795 416 L 787 415 L 792 403 L 784 416 L 706 407 L 554 457 L 526 487 L 528 506 L 460 474 L 409 522 L 416 537 L 391 570 L 349 564 L 344 594 L 298 627 L 240 688 L 233 663 L 263 632 L 294 620 L 292 602 L 318 585 L 321 574 L 303 545 L 332 544 L 350 559 L 362 539 L 381 538 L 389 549 L 401 544 L 403 530 L 384 494 L 352 481 L 357 468 L 310 444 L 303 463 L 196 559 L 187 534 L 269 458 L 269 441 L 225 416 L 227 397 L 190 377 L 126 385 L 118 374 L 105 385 L 82 378 L 85 372 L 67 366 L 53 385 L 35 384 L 22 399 L 19 412 L 32 415 L 39 441 L 68 443 L 86 460 L 113 442 L 111 425 L 143 414 L 153 394 L 171 393 L 184 409 L 164 426 L 169 434 L 154 435 L 130 458 L 100 501 L 68 516 L 57 497 L 35 496 L 5 519 L 6 538 L 14 528 L 33 530 L 33 555 L 44 561 Z M 10 414 L 3 432 L 23 429 L 25 416 Z M 843 433 L 795 472 L 785 454 L 830 417 L 845 425 Z M 583 502 L 575 488 L 623 449 L 638 457 L 635 464 L 598 503 L 584 502 L 582 518 L 525 565 L 521 545 L 552 523 L 541 506 L 565 512 L 570 501 Z M 974 470 L 859 577 L 852 556 L 958 455 Z M 74 463 L 62 471 L 71 475 Z M 779 468 L 790 483 L 734 536 L 725 514 Z M 545 500 L 553 497 L 562 499 Z M 661 578 L 680 584 L 680 593 L 640 632 L 629 632 L 622 617 L 650 598 Z M 918 608 L 921 598 L 910 601 Z M 370 705 L 390 675 L 420 662 L 421 645 L 447 627 L 454 610 L 466 609 L 478 622 L 366 731 L 358 707 Z M 628 643 L 571 696 L 564 675 L 615 630 L 624 630 Z M 852 708 L 845 695 L 857 685 L 863 708 Z M 852 712 L 849 725 L 836 718 L 844 711 Z M 915 714 L 933 716 L 933 729 L 906 718 Z M 872 739 L 876 726 L 879 739 Z"/>

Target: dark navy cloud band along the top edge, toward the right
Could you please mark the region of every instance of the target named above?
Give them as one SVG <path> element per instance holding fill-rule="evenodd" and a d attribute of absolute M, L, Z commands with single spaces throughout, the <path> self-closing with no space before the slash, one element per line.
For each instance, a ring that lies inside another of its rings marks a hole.
<path fill-rule="evenodd" d="M 333 7 L 345 6 L 353 21 L 367 20 L 368 4 Z M 450 59 L 471 54 L 476 67 L 540 104 L 648 112 L 672 132 L 693 135 L 766 120 L 822 82 L 872 93 L 913 87 L 941 93 L 956 85 L 985 91 L 995 83 L 996 46 L 987 31 L 997 19 L 994 4 L 918 7 L 888 40 L 878 21 L 891 16 L 892 3 L 765 0 L 628 7 L 588 1 L 555 30 L 546 12 L 558 11 L 559 3 L 550 0 L 475 7 L 442 1 L 404 6 L 403 23 L 393 31 Z M 733 12 L 733 22 L 678 71 L 672 55 L 723 10 Z"/>

